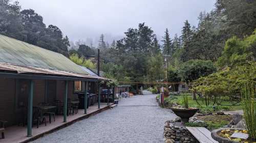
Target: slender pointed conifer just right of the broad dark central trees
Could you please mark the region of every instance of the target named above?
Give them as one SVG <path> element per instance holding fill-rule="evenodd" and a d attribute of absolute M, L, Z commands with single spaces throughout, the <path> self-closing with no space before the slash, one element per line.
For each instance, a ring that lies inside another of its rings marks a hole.
<path fill-rule="evenodd" d="M 169 31 L 166 28 L 164 32 L 164 37 L 163 37 L 163 54 L 170 55 L 172 54 L 172 39 L 170 39 Z"/>

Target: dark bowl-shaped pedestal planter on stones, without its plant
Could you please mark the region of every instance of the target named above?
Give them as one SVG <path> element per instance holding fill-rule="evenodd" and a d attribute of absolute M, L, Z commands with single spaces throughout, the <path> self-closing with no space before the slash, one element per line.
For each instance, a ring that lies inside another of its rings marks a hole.
<path fill-rule="evenodd" d="M 181 118 L 182 123 L 187 123 L 189 118 L 194 116 L 198 108 L 170 108 Z"/>

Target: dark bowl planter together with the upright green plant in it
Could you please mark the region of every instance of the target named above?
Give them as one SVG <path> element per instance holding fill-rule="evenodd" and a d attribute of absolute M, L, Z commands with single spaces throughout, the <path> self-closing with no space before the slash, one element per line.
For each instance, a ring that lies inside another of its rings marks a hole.
<path fill-rule="evenodd" d="M 182 96 L 182 105 L 183 107 L 172 107 L 171 109 L 174 113 L 181 118 L 182 123 L 187 123 L 189 118 L 194 116 L 195 113 L 198 111 L 198 108 L 193 108 L 188 106 L 188 96 L 183 94 Z"/>

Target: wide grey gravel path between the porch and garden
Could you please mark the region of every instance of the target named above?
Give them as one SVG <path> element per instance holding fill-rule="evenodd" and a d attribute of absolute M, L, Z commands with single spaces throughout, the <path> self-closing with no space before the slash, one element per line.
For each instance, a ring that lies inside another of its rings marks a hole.
<path fill-rule="evenodd" d="M 160 108 L 156 95 L 124 98 L 118 106 L 33 142 L 163 142 L 164 122 L 176 116 Z"/>

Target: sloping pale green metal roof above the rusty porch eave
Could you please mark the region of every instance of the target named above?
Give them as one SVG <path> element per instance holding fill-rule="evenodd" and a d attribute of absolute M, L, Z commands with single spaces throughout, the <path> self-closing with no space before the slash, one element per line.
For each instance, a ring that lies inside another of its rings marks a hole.
<path fill-rule="evenodd" d="M 66 56 L 0 35 L 0 62 L 89 74 Z"/>

